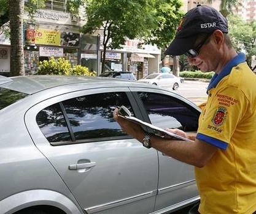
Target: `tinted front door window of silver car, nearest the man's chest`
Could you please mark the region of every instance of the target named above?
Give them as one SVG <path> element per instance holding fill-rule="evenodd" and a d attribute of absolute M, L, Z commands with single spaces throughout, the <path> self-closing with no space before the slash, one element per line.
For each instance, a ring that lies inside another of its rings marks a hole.
<path fill-rule="evenodd" d="M 198 129 L 198 112 L 177 98 L 168 95 L 139 92 L 149 119 L 161 128 L 180 128 L 184 131 Z"/>

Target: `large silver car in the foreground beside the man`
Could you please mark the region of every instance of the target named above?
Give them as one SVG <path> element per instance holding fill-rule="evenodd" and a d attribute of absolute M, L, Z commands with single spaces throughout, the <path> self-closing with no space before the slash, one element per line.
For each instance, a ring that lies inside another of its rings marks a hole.
<path fill-rule="evenodd" d="M 193 167 L 146 149 L 112 117 L 196 131 L 200 109 L 150 84 L 0 76 L 0 213 L 171 213 L 199 200 Z"/>

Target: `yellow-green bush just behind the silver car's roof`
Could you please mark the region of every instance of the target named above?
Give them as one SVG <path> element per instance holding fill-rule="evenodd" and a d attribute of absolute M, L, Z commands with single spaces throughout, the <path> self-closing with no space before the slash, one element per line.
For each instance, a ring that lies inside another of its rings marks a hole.
<path fill-rule="evenodd" d="M 74 65 L 73 67 L 67 59 L 54 57 L 39 62 L 37 75 L 80 75 L 80 76 L 96 76 L 96 72 L 90 72 L 87 67 Z"/>

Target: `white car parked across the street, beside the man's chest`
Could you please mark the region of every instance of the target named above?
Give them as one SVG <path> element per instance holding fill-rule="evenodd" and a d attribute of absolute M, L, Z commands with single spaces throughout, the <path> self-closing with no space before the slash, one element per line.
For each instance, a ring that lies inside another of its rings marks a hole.
<path fill-rule="evenodd" d="M 179 88 L 179 84 L 182 82 L 179 77 L 171 73 L 152 73 L 138 81 L 150 83 L 156 86 L 171 86 L 173 90 L 177 90 Z"/>

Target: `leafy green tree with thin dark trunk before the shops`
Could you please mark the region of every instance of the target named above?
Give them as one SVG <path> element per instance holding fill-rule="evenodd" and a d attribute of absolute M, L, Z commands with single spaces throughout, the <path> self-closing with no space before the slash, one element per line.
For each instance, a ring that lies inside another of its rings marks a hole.
<path fill-rule="evenodd" d="M 87 23 L 82 32 L 92 34 L 97 29 L 103 31 L 104 71 L 107 48 L 120 48 L 125 39 L 147 37 L 156 23 L 153 15 L 155 1 L 150 0 L 87 0 Z"/>

